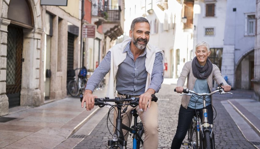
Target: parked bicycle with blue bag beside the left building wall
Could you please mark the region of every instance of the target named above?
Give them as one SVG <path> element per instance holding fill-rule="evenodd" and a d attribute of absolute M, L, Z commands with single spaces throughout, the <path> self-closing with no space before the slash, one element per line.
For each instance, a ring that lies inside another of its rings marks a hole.
<path fill-rule="evenodd" d="M 76 79 L 76 75 L 74 79 L 69 81 L 68 83 L 68 92 L 71 96 L 76 97 L 79 94 L 83 94 L 87 85 L 87 69 L 86 67 L 76 68 L 74 71 L 79 70 L 78 78 Z"/>

